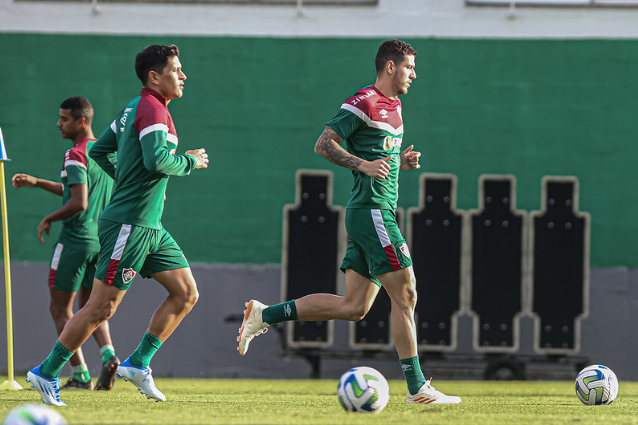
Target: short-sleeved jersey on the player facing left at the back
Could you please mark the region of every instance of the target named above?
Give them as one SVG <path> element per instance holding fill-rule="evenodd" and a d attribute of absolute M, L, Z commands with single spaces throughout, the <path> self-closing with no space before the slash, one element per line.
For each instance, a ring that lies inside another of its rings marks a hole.
<path fill-rule="evenodd" d="M 64 154 L 64 164 L 60 174 L 62 203 L 71 198 L 71 186 L 85 184 L 88 187 L 88 206 L 84 211 L 62 222 L 58 242 L 79 250 L 99 251 L 97 221 L 111 198 L 113 180 L 88 156 L 95 139 L 84 139 Z"/>

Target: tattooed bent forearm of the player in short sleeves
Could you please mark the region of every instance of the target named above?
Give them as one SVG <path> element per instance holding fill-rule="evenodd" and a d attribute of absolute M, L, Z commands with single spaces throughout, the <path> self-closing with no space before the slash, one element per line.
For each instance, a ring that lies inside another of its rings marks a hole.
<path fill-rule="evenodd" d="M 385 179 L 388 176 L 390 165 L 387 161 L 392 160 L 391 156 L 371 162 L 366 161 L 348 153 L 339 145 L 341 142 L 343 142 L 343 139 L 333 129 L 326 126 L 319 139 L 317 139 L 317 143 L 315 143 L 315 153 L 333 164 L 350 170 L 361 171 L 370 177 Z"/>

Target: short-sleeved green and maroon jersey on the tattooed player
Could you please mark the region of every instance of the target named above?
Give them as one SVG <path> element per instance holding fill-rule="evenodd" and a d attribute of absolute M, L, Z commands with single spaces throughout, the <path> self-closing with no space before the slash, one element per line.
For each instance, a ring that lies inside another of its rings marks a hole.
<path fill-rule="evenodd" d="M 387 98 L 374 85 L 364 87 L 347 99 L 326 124 L 346 141 L 352 155 L 366 161 L 392 157 L 384 180 L 352 171 L 354 187 L 346 208 L 395 210 L 403 141 L 401 100 Z"/>

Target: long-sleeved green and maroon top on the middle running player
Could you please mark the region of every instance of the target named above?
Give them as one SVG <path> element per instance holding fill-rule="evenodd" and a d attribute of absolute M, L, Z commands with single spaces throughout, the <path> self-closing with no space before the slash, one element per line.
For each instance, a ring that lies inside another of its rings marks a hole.
<path fill-rule="evenodd" d="M 177 132 L 167 105 L 159 93 L 142 89 L 93 145 L 91 158 L 115 179 L 101 218 L 162 228 L 168 177 L 188 175 L 196 166 L 194 156 L 175 154 Z"/>

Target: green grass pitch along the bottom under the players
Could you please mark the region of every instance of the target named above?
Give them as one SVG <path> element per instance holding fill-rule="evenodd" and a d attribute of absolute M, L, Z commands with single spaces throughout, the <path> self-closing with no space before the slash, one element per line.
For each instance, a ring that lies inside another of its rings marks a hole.
<path fill-rule="evenodd" d="M 20 384 L 24 381 L 19 376 Z M 3 378 L 4 380 L 4 378 Z M 584 406 L 572 382 L 439 381 L 463 398 L 456 406 L 404 403 L 405 384 L 390 381 L 390 402 L 379 415 L 346 413 L 336 380 L 157 379 L 165 403 L 149 401 L 118 380 L 113 390 L 61 393 L 69 424 L 638 424 L 638 383 L 620 383 L 609 406 Z M 27 384 L 23 384 L 26 388 Z M 41 403 L 35 390 L 0 391 L 0 417 L 14 406 Z"/>

